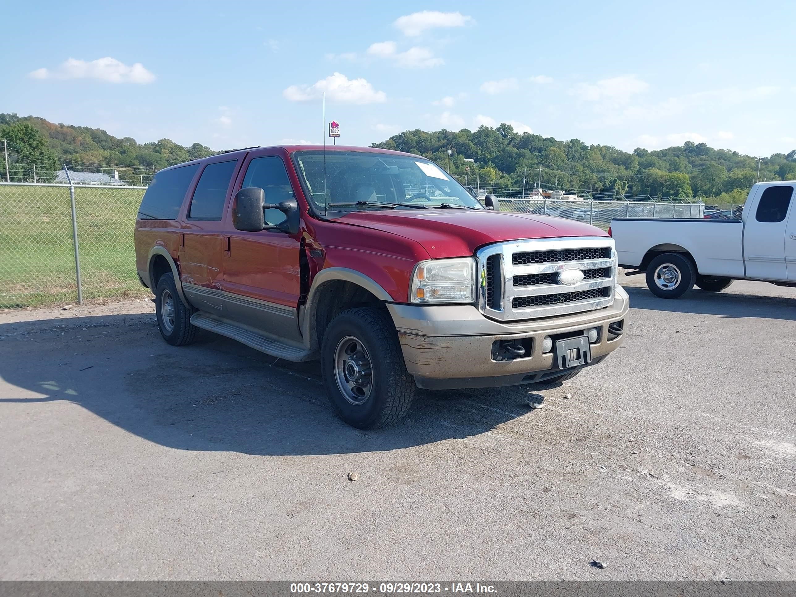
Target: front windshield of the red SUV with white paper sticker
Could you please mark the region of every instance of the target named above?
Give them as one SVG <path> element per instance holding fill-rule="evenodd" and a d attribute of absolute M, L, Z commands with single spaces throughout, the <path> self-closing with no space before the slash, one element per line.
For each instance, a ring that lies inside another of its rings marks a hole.
<path fill-rule="evenodd" d="M 293 155 L 307 198 L 317 209 L 357 209 L 357 202 L 368 207 L 482 209 L 462 185 L 423 158 L 365 151 L 297 151 Z M 337 205 L 344 203 L 349 205 Z"/>

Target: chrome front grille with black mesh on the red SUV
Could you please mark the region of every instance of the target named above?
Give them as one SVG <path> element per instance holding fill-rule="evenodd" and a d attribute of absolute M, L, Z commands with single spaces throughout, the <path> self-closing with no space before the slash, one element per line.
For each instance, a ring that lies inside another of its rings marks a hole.
<path fill-rule="evenodd" d="M 482 272 L 478 307 L 493 318 L 549 317 L 614 302 L 616 256 L 611 238 L 498 243 L 482 248 L 476 257 Z M 583 279 L 562 283 L 560 276 L 567 270 L 582 271 Z"/>

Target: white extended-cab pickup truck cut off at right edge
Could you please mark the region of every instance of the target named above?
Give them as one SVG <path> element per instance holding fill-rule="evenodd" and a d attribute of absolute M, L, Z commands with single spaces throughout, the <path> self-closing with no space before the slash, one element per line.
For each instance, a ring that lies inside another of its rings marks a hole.
<path fill-rule="evenodd" d="M 721 291 L 734 279 L 796 287 L 796 181 L 752 186 L 739 220 L 611 220 L 619 267 L 646 272 L 655 295 L 696 284 Z"/>

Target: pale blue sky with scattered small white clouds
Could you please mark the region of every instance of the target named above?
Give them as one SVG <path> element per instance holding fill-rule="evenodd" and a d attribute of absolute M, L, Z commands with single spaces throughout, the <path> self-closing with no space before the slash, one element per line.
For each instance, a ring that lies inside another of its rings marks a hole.
<path fill-rule="evenodd" d="M 46 6 L 48 5 L 49 6 Z M 0 111 L 224 149 L 509 122 L 796 148 L 796 2 L 14 2 Z M 44 15 L 49 15 L 46 18 Z M 106 59 L 106 60 L 103 60 Z"/>

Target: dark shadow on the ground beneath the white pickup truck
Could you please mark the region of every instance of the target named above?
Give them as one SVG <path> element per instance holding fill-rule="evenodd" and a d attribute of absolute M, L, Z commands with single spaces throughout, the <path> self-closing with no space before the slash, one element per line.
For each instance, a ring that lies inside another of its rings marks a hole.
<path fill-rule="evenodd" d="M 699 289 L 686 292 L 681 298 L 658 298 L 647 288 L 623 286 L 630 295 L 630 307 L 669 311 L 670 313 L 696 313 L 718 315 L 724 318 L 769 318 L 796 321 L 796 296 L 794 298 L 745 295 L 732 292 L 705 292 Z"/>

